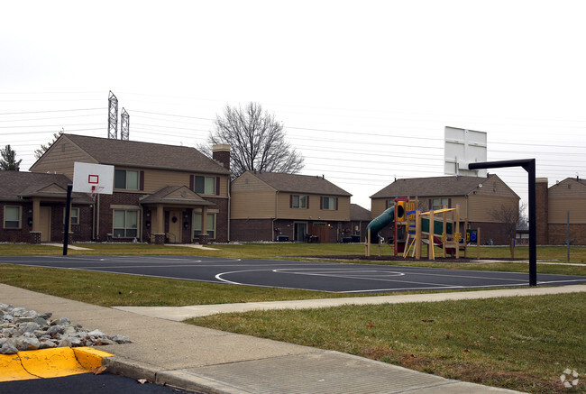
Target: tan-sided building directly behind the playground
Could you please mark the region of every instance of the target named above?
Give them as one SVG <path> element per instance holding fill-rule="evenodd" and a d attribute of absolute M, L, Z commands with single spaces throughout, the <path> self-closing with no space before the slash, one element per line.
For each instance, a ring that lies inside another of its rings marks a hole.
<path fill-rule="evenodd" d="M 518 212 L 519 197 L 497 175 L 477 177 L 435 177 L 398 179 L 371 196 L 371 217 L 375 218 L 394 204 L 396 197 L 419 199 L 419 208 L 427 211 L 460 205 L 460 217 L 468 218 L 471 228 L 481 227 L 481 242 L 508 244 L 508 234 L 496 212 Z M 390 229 L 381 233 L 390 236 Z"/>

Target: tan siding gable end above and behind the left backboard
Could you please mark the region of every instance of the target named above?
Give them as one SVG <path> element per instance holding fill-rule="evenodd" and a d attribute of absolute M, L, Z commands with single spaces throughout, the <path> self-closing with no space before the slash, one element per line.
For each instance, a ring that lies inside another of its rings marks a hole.
<path fill-rule="evenodd" d="M 63 174 L 73 180 L 73 163 L 76 161 L 93 163 L 97 161 L 82 151 L 67 138 L 61 138 L 50 146 L 36 163 L 31 167 L 31 172 L 50 172 Z"/>

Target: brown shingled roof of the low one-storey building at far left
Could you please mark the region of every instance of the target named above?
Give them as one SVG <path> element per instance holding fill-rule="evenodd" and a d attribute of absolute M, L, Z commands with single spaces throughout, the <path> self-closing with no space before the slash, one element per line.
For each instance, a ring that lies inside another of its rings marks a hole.
<path fill-rule="evenodd" d="M 61 174 L 42 172 L 0 171 L 0 200 L 22 201 L 26 197 L 67 197 L 67 186 L 71 180 Z M 90 197 L 73 193 L 76 204 L 91 204 Z"/>

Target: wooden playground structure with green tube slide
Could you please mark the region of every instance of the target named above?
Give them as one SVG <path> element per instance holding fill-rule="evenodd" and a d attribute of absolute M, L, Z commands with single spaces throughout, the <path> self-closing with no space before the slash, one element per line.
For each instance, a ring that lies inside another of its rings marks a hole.
<path fill-rule="evenodd" d="M 384 239 L 379 233 L 391 224 L 392 236 L 389 246 L 393 247 L 393 254 L 402 253 L 407 257 L 409 252 L 417 260 L 421 259 L 423 245 L 427 245 L 427 258 L 435 260 L 435 248 L 442 248 L 445 258 L 448 254 L 460 258 L 460 251 L 468 257 L 468 247 L 476 245 L 476 258 L 480 259 L 481 229 L 469 229 L 468 219 L 461 220 L 460 205 L 455 208 L 443 207 L 437 210 L 423 212 L 419 209 L 417 198 L 397 197 L 394 204 L 389 206 L 381 215 L 371 221 L 367 227 L 366 256 L 371 256 L 373 240 L 380 246 Z M 465 236 L 462 238 L 462 230 Z"/>

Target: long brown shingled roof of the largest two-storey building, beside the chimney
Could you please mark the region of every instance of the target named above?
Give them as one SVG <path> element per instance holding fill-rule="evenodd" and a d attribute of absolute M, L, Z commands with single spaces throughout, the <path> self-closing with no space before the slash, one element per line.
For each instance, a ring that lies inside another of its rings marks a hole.
<path fill-rule="evenodd" d="M 230 171 L 195 148 L 151 142 L 112 140 L 63 134 L 99 164 L 229 175 Z M 55 144 L 51 145 L 54 146 Z"/>

